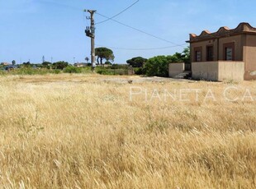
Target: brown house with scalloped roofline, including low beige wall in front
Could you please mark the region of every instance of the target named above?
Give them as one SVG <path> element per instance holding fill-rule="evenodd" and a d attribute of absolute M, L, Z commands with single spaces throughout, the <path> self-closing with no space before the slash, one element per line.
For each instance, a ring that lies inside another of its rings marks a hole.
<path fill-rule="evenodd" d="M 211 81 L 256 79 L 256 28 L 240 23 L 214 33 L 190 35 L 192 78 Z"/>

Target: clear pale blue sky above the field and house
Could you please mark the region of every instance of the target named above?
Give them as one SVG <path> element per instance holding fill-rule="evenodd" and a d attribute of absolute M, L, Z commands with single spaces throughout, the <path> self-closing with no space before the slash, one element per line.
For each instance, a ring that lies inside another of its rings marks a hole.
<path fill-rule="evenodd" d="M 17 63 L 64 60 L 84 62 L 90 57 L 90 39 L 84 34 L 89 21 L 83 9 L 114 16 L 136 0 L 0 0 L 0 62 Z M 256 1 L 241 0 L 140 0 L 115 20 L 166 39 L 185 44 L 189 33 L 212 32 L 220 26 L 235 28 L 239 22 L 256 27 Z M 95 21 L 105 18 L 95 16 Z M 182 52 L 183 47 L 154 50 L 116 48 L 163 48 L 164 40 L 132 30 L 113 21 L 96 25 L 97 46 L 109 47 L 116 63 L 142 56 L 151 58 Z"/>

